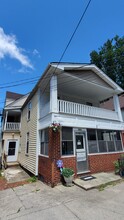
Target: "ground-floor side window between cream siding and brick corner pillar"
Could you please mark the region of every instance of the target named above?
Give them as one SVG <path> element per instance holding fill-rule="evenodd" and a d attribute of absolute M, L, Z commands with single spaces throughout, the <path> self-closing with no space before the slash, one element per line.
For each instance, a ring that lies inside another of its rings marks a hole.
<path fill-rule="evenodd" d="M 49 143 L 49 130 L 47 128 L 41 131 L 40 154 L 48 156 L 48 143 Z"/>

